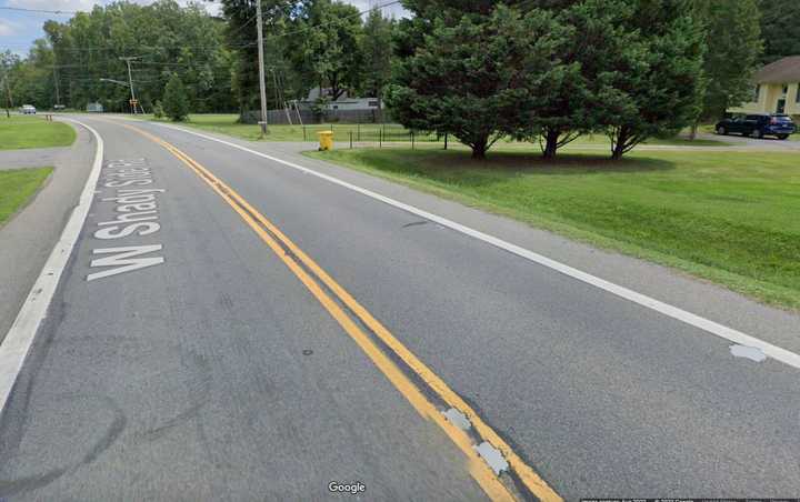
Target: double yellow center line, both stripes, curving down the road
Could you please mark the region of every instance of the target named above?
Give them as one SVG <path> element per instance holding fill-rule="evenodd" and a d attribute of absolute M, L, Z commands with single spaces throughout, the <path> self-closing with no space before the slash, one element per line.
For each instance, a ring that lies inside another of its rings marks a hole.
<path fill-rule="evenodd" d="M 474 432 L 483 441 L 489 442 L 503 455 L 509 469 L 516 476 L 517 488 L 529 493 L 522 496 L 533 496 L 542 502 L 561 501 L 559 496 L 519 455 L 500 438 L 461 396 L 453 392 L 444 381 L 431 371 L 422 361 L 406 348 L 391 332 L 372 317 L 356 299 L 337 283 L 317 262 L 309 258 L 270 220 L 253 208 L 233 189 L 222 182 L 199 162 L 177 149 L 174 145 L 147 131 L 132 126 L 122 124 L 146 138 L 162 145 L 174 157 L 180 159 L 194 171 L 211 189 L 217 192 L 261 238 L 261 240 L 276 253 L 276 255 L 297 275 L 311 294 L 333 317 L 342 329 L 358 343 L 363 352 L 372 360 L 378 369 L 397 388 L 398 391 L 414 406 L 414 409 L 439 425 L 442 431 L 456 443 L 467 456 L 467 464 L 472 478 L 480 484 L 490 499 L 497 501 L 514 500 L 512 490 L 501 481 L 489 465 L 478 455 L 469 434 L 450 423 L 444 415 L 426 398 L 420 388 L 414 384 L 407 373 L 381 350 L 376 341 L 362 330 L 344 310 L 357 318 L 371 333 L 374 334 L 397 358 L 402 361 L 408 371 L 412 371 L 423 383 L 447 405 L 459 410 L 470 421 Z M 324 285 L 328 291 L 326 291 Z M 336 298 L 336 299 L 334 299 Z M 337 301 L 338 300 L 338 301 Z M 342 308 L 344 305 L 344 308 Z M 521 485 L 521 486 L 520 486 Z"/>

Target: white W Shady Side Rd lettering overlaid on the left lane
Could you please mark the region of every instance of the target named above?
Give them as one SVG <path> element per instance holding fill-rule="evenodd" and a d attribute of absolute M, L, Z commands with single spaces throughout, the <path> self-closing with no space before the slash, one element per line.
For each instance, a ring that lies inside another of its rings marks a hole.
<path fill-rule="evenodd" d="M 161 229 L 158 213 L 158 195 L 166 190 L 154 188 L 152 171 L 146 159 L 112 160 L 102 170 L 103 189 L 110 189 L 113 197 L 103 197 L 101 202 L 116 204 L 116 217 L 101 221 L 93 237 L 100 240 L 116 240 L 129 237 L 146 237 Z M 103 190 L 103 193 L 106 191 Z M 106 268 L 87 275 L 88 281 L 103 279 L 118 273 L 131 272 L 164 262 L 162 255 L 149 255 L 163 250 L 162 244 L 122 245 L 93 249 L 91 268 Z M 110 268 L 109 268 L 110 267 Z"/>

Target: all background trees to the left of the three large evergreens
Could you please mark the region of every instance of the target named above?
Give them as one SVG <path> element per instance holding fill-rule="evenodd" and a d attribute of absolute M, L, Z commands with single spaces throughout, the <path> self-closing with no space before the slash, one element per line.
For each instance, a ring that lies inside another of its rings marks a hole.
<path fill-rule="evenodd" d="M 394 21 L 380 10 L 367 13 L 330 0 L 262 2 L 269 108 L 304 99 L 318 86 L 378 96 L 390 73 Z M 107 110 L 129 109 L 128 69 L 147 111 L 164 99 L 174 76 L 193 112 L 256 110 L 258 57 L 256 4 L 224 0 L 219 17 L 200 3 L 173 0 L 149 6 L 118 1 L 96 6 L 67 22 L 47 21 L 46 37 L 26 58 L 0 53 L 0 83 L 8 80 L 17 103 L 38 108 L 64 104 L 83 109 L 100 102 Z M 57 103 L 57 96 L 60 103 Z"/>

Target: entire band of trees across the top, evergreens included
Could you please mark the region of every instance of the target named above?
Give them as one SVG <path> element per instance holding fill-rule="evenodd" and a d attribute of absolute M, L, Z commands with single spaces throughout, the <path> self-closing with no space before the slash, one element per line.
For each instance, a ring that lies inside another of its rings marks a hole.
<path fill-rule="evenodd" d="M 312 88 L 384 98 L 404 126 L 450 134 L 483 157 L 500 138 L 546 157 L 584 133 L 619 158 L 653 135 L 747 101 L 759 64 L 800 53 L 800 23 L 769 0 L 403 0 L 399 21 L 334 0 L 261 0 L 268 108 Z M 780 7 L 779 7 L 780 6 Z M 253 0 L 219 17 L 172 0 L 120 1 L 44 23 L 27 58 L 0 56 L 16 100 L 124 110 L 120 57 L 148 109 L 167 83 L 194 112 L 259 108 Z M 319 104 L 324 104 L 321 102 Z M 167 107 L 169 108 L 169 107 Z"/>

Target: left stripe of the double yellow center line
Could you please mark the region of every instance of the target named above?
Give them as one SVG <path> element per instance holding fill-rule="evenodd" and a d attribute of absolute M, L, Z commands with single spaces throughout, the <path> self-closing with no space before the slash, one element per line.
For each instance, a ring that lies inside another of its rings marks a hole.
<path fill-rule="evenodd" d="M 200 163 L 191 159 L 189 155 L 173 147 L 172 144 L 157 138 L 148 132 L 137 128 L 124 126 L 136 130 L 142 135 L 156 141 L 164 147 L 178 159 L 183 161 L 193 171 L 206 181 L 212 190 L 214 190 L 239 215 L 256 231 L 267 245 L 283 261 L 294 275 L 306 285 L 311 294 L 322 304 L 322 307 L 333 317 L 333 319 L 344 329 L 344 331 L 359 344 L 361 350 L 372 360 L 372 362 L 381 370 L 387 379 L 394 385 L 400 393 L 414 406 L 420 415 L 433 420 L 439 428 L 450 438 L 453 443 L 464 453 L 468 461 L 468 469 L 472 478 L 483 489 L 491 500 L 494 501 L 513 501 L 513 496 L 509 490 L 500 482 L 491 469 L 481 460 L 472 446 L 470 438 L 464 431 L 454 426 L 444 418 L 439 410 L 422 394 L 422 392 L 413 384 L 406 374 L 370 340 L 370 338 L 344 313 L 336 301 L 333 301 L 317 282 L 291 258 L 287 257 L 283 248 L 272 237 L 261 228 L 250 213 L 263 218 L 260 213 L 254 212 L 250 208 L 242 209 L 238 203 L 241 199 L 230 187 L 211 174 Z M 249 205 L 249 204 L 248 204 Z"/>

